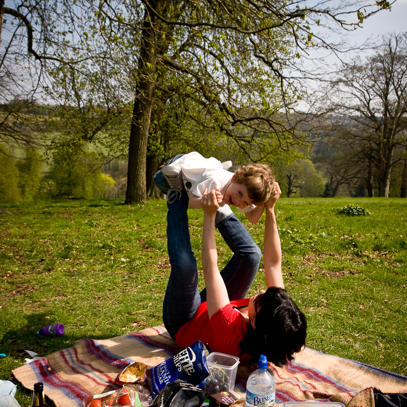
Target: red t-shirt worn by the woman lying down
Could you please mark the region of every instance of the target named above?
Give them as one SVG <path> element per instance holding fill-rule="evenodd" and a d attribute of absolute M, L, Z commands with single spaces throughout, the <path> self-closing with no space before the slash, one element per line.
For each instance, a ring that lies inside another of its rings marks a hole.
<path fill-rule="evenodd" d="M 208 343 L 212 352 L 239 356 L 239 343 L 247 332 L 247 325 L 242 314 L 233 307 L 244 307 L 248 302 L 248 298 L 231 301 L 218 309 L 210 320 L 206 301 L 203 302 L 192 319 L 177 332 L 177 345 L 185 349 L 200 340 Z"/>

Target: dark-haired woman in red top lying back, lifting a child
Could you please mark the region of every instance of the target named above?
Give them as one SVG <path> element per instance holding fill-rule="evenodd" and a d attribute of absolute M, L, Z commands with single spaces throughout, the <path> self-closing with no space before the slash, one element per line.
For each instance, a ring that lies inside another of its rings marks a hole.
<path fill-rule="evenodd" d="M 266 203 L 264 272 L 267 291 L 245 298 L 259 267 L 259 248 L 237 221 L 224 230 L 217 223 L 234 253 L 219 272 L 215 242 L 216 192 L 205 190 L 202 266 L 206 289 L 198 291 L 197 263 L 192 252 L 186 209 L 188 196 L 168 205 L 167 238 L 171 274 L 163 305 L 163 320 L 180 348 L 198 339 L 211 351 L 257 360 L 261 354 L 277 366 L 294 358 L 305 345 L 306 320 L 284 289 L 281 244 L 274 205 L 281 195 L 276 183 L 274 197 Z M 229 220 L 230 221 L 230 220 Z M 260 252 L 261 253 L 261 252 Z"/>

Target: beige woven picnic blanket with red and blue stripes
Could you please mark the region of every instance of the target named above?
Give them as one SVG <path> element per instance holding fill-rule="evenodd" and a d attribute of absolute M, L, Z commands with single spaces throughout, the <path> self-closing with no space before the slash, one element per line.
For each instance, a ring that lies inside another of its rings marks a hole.
<path fill-rule="evenodd" d="M 164 326 L 111 339 L 81 339 L 75 346 L 37 359 L 13 370 L 27 389 L 43 382 L 56 407 L 83 406 L 91 394 L 118 387 L 108 379 L 139 361 L 153 367 L 180 349 Z M 339 401 L 349 407 L 374 407 L 373 387 L 384 393 L 406 393 L 407 377 L 363 363 L 305 348 L 284 368 L 270 364 L 276 382 L 276 403 L 286 401 Z M 240 364 L 235 391 L 245 392 L 255 364 Z"/>

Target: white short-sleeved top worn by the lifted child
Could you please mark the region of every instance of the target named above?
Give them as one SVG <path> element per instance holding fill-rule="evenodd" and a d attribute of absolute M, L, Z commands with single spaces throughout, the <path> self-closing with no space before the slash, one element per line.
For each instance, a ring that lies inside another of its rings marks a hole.
<path fill-rule="evenodd" d="M 189 196 L 196 195 L 202 197 L 205 189 L 222 190 L 231 182 L 233 172 L 225 170 L 222 163 L 210 157 L 206 159 L 199 152 L 192 151 L 182 155 L 178 160 L 171 163 L 171 166 L 178 165 L 182 171 L 182 181 Z M 221 204 L 224 206 L 225 203 Z M 237 208 L 240 212 L 250 212 L 255 206 Z"/>

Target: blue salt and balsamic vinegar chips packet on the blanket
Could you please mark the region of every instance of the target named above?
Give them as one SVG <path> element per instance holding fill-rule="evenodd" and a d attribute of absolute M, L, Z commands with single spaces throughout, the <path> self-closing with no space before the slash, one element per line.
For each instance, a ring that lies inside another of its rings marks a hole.
<path fill-rule="evenodd" d="M 159 365 L 146 371 L 147 382 L 153 397 L 156 397 L 166 384 L 177 379 L 197 385 L 209 375 L 206 356 L 209 349 L 200 340 L 177 353 Z"/>

